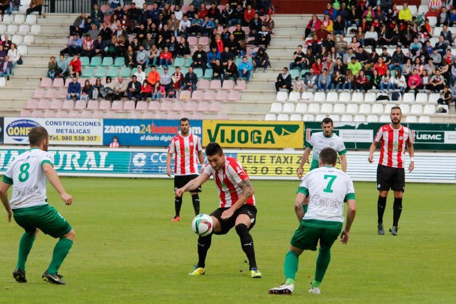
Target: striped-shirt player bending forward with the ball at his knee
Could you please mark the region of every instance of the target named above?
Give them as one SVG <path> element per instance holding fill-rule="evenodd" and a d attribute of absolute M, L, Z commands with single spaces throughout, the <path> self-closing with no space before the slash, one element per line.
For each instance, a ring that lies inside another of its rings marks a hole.
<path fill-rule="evenodd" d="M 233 227 L 241 240 L 241 247 L 249 260 L 250 276 L 261 278 L 256 267 L 253 238 L 249 231 L 256 222 L 255 197 L 249 177 L 235 158 L 226 157 L 222 148 L 216 142 L 206 147 L 208 164 L 204 171 L 189 181 L 182 188 L 177 189 L 176 196 L 180 197 L 185 191 L 194 191 L 209 177 L 214 176 L 215 185 L 220 197 L 220 207 L 212 212 L 213 234 L 227 234 Z M 211 246 L 212 234 L 198 238 L 198 264 L 188 274 L 190 276 L 204 275 L 207 251 Z"/>

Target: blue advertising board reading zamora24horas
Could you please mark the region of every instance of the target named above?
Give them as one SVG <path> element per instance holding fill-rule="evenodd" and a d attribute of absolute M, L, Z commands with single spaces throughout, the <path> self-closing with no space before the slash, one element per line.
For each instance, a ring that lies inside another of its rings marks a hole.
<path fill-rule="evenodd" d="M 191 132 L 202 136 L 203 122 L 192 120 Z M 179 133 L 179 120 L 105 119 L 103 144 L 109 145 L 117 136 L 121 146 L 168 146 Z"/>

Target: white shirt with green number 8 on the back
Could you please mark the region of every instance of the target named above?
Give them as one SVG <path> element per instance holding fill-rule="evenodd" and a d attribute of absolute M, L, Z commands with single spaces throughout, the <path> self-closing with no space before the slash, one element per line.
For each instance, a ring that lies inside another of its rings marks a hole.
<path fill-rule="evenodd" d="M 15 159 L 3 176 L 3 181 L 13 185 L 10 201 L 12 209 L 47 204 L 44 164 L 54 166 L 54 158 L 47 151 L 32 148 Z"/>

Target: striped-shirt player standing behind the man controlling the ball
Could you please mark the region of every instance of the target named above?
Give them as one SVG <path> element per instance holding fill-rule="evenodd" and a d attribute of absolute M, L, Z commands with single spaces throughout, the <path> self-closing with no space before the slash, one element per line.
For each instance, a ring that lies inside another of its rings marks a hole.
<path fill-rule="evenodd" d="M 180 134 L 171 139 L 166 157 L 166 174 L 171 176 L 171 159 L 174 155 L 174 191 L 183 187 L 188 181 L 198 177 L 198 160 L 204 165 L 203 148 L 201 139 L 190 132 L 190 121 L 182 118 L 179 122 Z M 190 194 L 192 195 L 193 208 L 195 215 L 200 213 L 201 187 L 195 188 Z M 182 206 L 182 197 L 174 198 L 174 209 L 176 214 L 172 221 L 180 221 L 180 207 Z"/>

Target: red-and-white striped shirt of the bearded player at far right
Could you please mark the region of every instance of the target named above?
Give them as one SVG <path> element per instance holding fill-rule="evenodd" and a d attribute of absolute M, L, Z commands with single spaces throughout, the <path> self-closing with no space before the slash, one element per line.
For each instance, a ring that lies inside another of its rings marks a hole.
<path fill-rule="evenodd" d="M 375 141 L 381 142 L 379 165 L 393 168 L 404 168 L 405 144 L 413 143 L 414 134 L 409 128 L 401 126 L 393 129 L 385 125 L 378 129 Z"/>

